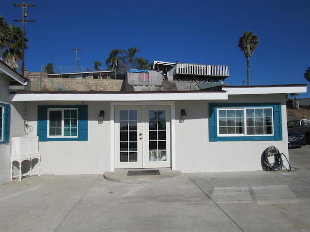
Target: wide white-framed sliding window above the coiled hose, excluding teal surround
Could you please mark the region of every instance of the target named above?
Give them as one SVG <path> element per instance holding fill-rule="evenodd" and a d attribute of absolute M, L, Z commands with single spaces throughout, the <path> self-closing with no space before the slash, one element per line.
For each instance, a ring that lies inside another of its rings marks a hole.
<path fill-rule="evenodd" d="M 272 136 L 272 107 L 217 108 L 217 136 Z"/>

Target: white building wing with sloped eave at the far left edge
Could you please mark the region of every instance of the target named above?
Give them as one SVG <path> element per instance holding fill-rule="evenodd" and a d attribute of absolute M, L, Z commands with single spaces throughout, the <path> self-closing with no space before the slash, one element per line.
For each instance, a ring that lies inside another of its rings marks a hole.
<path fill-rule="evenodd" d="M 9 89 L 25 89 L 27 80 L 0 60 L 0 184 L 10 179 L 11 137 L 24 135 L 24 103 L 12 105 Z"/>

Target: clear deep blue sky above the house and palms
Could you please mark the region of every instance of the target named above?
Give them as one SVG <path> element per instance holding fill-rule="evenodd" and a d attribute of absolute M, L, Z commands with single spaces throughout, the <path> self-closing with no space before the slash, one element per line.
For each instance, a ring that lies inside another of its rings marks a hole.
<path fill-rule="evenodd" d="M 0 15 L 14 19 L 22 9 L 1 0 Z M 229 85 L 247 80 L 246 58 L 237 47 L 245 31 L 259 36 L 250 58 L 251 85 L 308 84 L 310 66 L 309 0 L 31 0 L 27 8 L 29 39 L 25 66 L 39 72 L 48 62 L 54 70 L 93 70 L 114 49 L 137 46 L 150 61 L 228 65 Z M 246 83 L 245 83 L 246 84 Z M 310 97 L 310 90 L 300 97 Z"/>

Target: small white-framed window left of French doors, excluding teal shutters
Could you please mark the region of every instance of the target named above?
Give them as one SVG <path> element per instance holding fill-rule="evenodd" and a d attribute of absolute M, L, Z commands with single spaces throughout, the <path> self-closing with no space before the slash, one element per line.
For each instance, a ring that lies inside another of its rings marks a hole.
<path fill-rule="evenodd" d="M 78 138 L 78 108 L 48 108 L 47 138 Z"/>

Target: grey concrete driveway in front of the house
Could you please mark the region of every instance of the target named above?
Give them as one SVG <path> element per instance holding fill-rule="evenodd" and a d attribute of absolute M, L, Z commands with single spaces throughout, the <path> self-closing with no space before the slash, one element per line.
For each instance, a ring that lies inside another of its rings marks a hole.
<path fill-rule="evenodd" d="M 0 231 L 310 232 L 310 145 L 289 152 L 291 172 L 16 179 L 0 185 Z"/>

